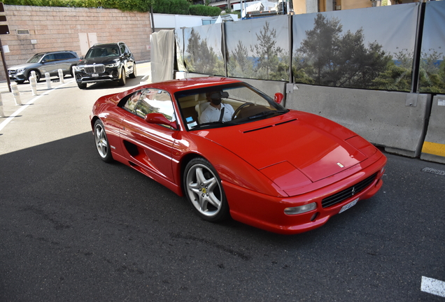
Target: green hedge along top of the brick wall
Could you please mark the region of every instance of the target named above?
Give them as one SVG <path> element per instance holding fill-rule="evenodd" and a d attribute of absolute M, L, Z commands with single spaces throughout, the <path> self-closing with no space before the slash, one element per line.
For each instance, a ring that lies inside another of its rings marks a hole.
<path fill-rule="evenodd" d="M 216 16 L 220 8 L 203 5 L 190 5 L 188 0 L 3 0 L 4 4 L 17 6 L 57 6 L 78 8 L 116 8 L 122 11 L 145 13 L 150 10 L 153 1 L 153 13 L 174 15 Z"/>

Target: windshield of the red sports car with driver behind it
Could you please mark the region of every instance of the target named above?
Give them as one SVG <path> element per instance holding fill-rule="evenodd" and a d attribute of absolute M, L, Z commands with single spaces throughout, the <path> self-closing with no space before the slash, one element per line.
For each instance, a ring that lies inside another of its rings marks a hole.
<path fill-rule="evenodd" d="M 189 130 L 227 127 L 288 112 L 244 82 L 176 92 L 175 98 Z"/>

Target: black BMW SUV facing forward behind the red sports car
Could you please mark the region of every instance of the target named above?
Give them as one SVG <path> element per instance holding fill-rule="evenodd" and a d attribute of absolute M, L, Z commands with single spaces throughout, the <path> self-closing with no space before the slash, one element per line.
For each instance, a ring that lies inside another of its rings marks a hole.
<path fill-rule="evenodd" d="M 80 89 L 87 83 L 117 81 L 124 86 L 127 76 L 136 78 L 136 62 L 125 43 L 94 44 L 75 68 Z"/>

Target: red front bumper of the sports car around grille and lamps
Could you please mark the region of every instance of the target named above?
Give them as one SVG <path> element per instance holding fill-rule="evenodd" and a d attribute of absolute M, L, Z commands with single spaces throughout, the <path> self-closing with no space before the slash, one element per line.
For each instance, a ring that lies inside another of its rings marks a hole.
<path fill-rule="evenodd" d="M 367 159 L 370 160 L 370 159 Z M 223 182 L 230 214 L 234 220 L 274 233 L 295 234 L 323 226 L 333 215 L 348 203 L 369 199 L 376 194 L 383 181 L 386 157 L 374 159 L 374 163 L 338 182 L 312 192 L 291 197 L 267 196 L 258 192 Z M 353 194 L 339 203 L 323 208 L 323 199 L 337 194 L 376 173 L 376 178 L 358 194 Z M 285 208 L 316 203 L 316 209 L 297 215 L 286 215 Z"/>

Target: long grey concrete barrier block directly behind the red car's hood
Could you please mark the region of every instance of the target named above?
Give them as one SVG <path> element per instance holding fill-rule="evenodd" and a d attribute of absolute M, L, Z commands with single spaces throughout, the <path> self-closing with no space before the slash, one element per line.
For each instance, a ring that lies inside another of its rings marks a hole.
<path fill-rule="evenodd" d="M 287 108 L 334 120 L 387 152 L 408 157 L 421 155 L 431 110 L 430 94 L 304 84 L 290 87 Z"/>

